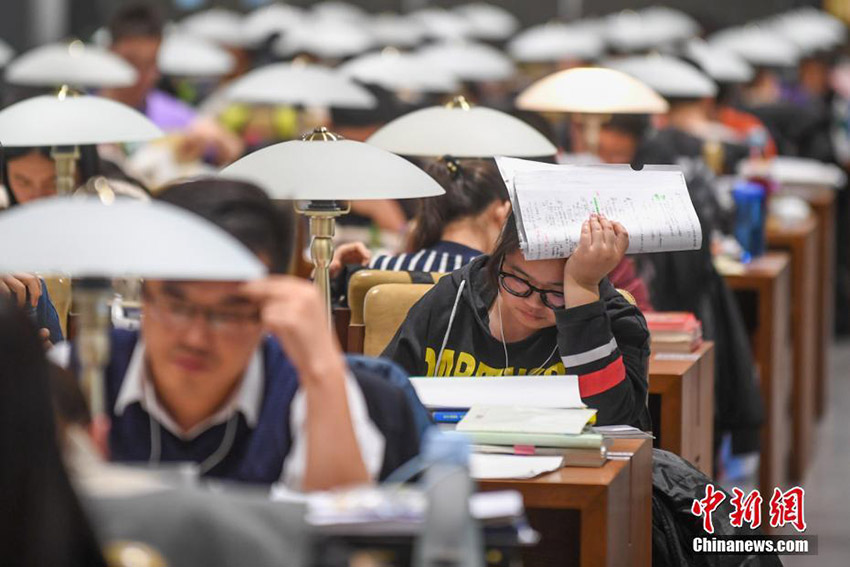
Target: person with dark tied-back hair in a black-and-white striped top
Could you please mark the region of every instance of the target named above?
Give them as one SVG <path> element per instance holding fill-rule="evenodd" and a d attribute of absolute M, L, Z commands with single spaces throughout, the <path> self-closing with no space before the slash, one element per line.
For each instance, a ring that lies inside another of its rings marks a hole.
<path fill-rule="evenodd" d="M 420 201 L 404 254 L 376 256 L 370 268 L 451 272 L 492 252 L 511 210 L 496 165 L 446 157 L 427 162 L 423 169 L 445 195 Z"/>

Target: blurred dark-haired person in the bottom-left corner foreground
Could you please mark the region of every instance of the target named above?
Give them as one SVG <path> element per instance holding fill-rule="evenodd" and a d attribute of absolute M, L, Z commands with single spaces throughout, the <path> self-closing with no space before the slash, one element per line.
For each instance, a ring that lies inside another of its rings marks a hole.
<path fill-rule="evenodd" d="M 4 565 L 105 565 L 69 482 L 41 339 L 0 297 L 0 557 Z"/>

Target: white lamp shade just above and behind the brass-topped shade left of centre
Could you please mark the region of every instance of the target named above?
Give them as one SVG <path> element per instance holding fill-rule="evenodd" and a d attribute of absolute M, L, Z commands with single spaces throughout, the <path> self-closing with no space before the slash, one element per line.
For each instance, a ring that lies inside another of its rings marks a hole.
<path fill-rule="evenodd" d="M 375 108 L 365 87 L 338 71 L 319 65 L 273 63 L 233 81 L 225 97 L 234 102 L 267 105 L 316 105 L 331 108 Z"/>

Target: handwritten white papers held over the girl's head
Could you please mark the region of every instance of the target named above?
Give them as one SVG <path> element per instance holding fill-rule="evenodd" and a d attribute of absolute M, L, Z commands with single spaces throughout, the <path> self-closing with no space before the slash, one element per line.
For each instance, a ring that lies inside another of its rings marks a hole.
<path fill-rule="evenodd" d="M 629 231 L 629 252 L 698 250 L 702 230 L 681 171 L 560 166 L 520 171 L 514 178 L 517 214 L 528 260 L 566 258 L 581 225 L 599 212 Z"/>

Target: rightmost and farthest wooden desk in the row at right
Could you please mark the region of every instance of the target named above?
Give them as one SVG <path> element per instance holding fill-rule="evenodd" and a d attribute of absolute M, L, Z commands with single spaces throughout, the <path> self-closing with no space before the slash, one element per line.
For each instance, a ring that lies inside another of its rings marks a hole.
<path fill-rule="evenodd" d="M 795 195 L 806 200 L 812 207 L 812 212 L 818 219 L 817 250 L 818 262 L 817 296 L 820 305 L 817 313 L 818 337 L 816 354 L 817 392 L 815 394 L 815 410 L 817 416 L 823 417 L 829 407 L 829 350 L 832 346 L 835 318 L 835 218 L 837 204 L 835 190 L 828 187 L 786 185 L 781 193 Z"/>

